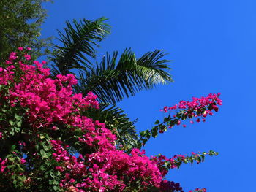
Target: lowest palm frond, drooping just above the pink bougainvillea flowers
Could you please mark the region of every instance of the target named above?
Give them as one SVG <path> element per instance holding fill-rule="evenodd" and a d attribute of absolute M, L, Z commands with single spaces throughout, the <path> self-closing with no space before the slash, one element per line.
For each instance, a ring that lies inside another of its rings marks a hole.
<path fill-rule="evenodd" d="M 124 110 L 116 106 L 101 105 L 99 110 L 91 109 L 84 112 L 83 115 L 99 120 L 101 123 L 105 123 L 106 128 L 110 129 L 113 134 L 116 135 L 116 145 L 125 146 L 127 149 L 136 145 L 138 141 L 138 135 L 135 131 L 134 124 L 137 119 L 130 121 Z"/>

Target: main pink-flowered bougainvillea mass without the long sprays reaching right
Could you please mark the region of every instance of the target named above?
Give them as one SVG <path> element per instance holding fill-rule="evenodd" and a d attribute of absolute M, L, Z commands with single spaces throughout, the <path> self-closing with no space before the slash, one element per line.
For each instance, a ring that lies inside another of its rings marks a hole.
<path fill-rule="evenodd" d="M 19 50 L 1 65 L 0 91 L 5 101 L 2 111 L 6 111 L 4 107 L 15 111 L 15 119 L 8 116 L 10 120 L 1 127 L 2 139 L 12 141 L 20 153 L 26 154 L 19 158 L 20 164 L 26 166 L 22 173 L 26 178 L 21 184 L 32 188 L 39 177 L 37 169 L 52 167 L 55 172 L 49 174 L 56 179 L 49 181 L 48 188 L 64 191 L 160 187 L 162 174 L 154 161 L 137 149 L 130 155 L 117 150 L 116 136 L 105 124 L 82 115 L 90 107 L 99 107 L 97 96 L 91 92 L 85 97 L 73 93 L 72 86 L 78 83 L 74 75 L 53 78 L 50 69 L 44 68 L 45 62 L 31 61 L 26 49 Z M 70 153 L 71 148 L 79 157 Z M 8 171 L 5 159 L 1 170 Z M 37 167 L 31 162 L 40 164 Z"/>

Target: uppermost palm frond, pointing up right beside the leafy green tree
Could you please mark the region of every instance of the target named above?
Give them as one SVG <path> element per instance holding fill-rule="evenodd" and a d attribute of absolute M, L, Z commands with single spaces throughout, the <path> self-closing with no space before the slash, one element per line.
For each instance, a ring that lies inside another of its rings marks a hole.
<path fill-rule="evenodd" d="M 110 26 L 104 21 L 98 20 L 73 20 L 66 22 L 64 33 L 59 31 L 59 41 L 62 46 L 53 45 L 53 74 L 71 73 L 71 69 L 86 69 L 91 67 L 90 58 L 95 58 L 97 42 L 102 41 L 110 33 Z"/>

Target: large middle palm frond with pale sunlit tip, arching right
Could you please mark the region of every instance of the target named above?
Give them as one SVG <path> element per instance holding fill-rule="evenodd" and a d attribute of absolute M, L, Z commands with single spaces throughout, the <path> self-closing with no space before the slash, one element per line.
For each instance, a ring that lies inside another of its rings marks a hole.
<path fill-rule="evenodd" d="M 117 52 L 112 57 L 107 53 L 94 68 L 79 73 L 76 90 L 83 94 L 93 91 L 99 101 L 116 104 L 126 96 L 172 81 L 166 71 L 170 69 L 165 64 L 168 61 L 161 60 L 164 55 L 162 50 L 155 50 L 136 59 L 135 53 L 127 49 L 117 62 Z"/>

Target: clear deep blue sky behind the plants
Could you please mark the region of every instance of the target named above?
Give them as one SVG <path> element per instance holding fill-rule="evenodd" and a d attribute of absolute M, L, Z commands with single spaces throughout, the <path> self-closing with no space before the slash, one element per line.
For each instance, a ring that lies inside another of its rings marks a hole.
<path fill-rule="evenodd" d="M 159 109 L 192 96 L 221 92 L 223 106 L 206 123 L 176 127 L 152 139 L 148 155 L 215 150 L 203 164 L 171 170 L 168 180 L 185 191 L 255 191 L 256 1 L 254 0 L 55 0 L 45 4 L 42 36 L 57 36 L 65 20 L 109 18 L 112 33 L 98 55 L 132 47 L 141 56 L 156 48 L 170 53 L 175 82 L 120 103 L 138 130 L 162 119 Z"/>

